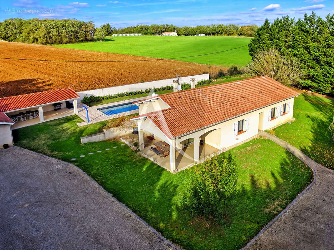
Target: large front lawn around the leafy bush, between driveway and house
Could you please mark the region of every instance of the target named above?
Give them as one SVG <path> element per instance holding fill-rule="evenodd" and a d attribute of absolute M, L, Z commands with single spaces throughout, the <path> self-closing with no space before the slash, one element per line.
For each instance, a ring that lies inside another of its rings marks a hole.
<path fill-rule="evenodd" d="M 235 147 L 226 154 L 237 164 L 237 194 L 225 222 L 217 224 L 190 214 L 183 205 L 194 168 L 172 174 L 116 140 L 81 145 L 80 137 L 100 132 L 104 122 L 77 127 L 80 121 L 73 115 L 15 130 L 15 145 L 75 164 L 186 249 L 239 249 L 313 178 L 310 168 L 270 140 Z"/>

